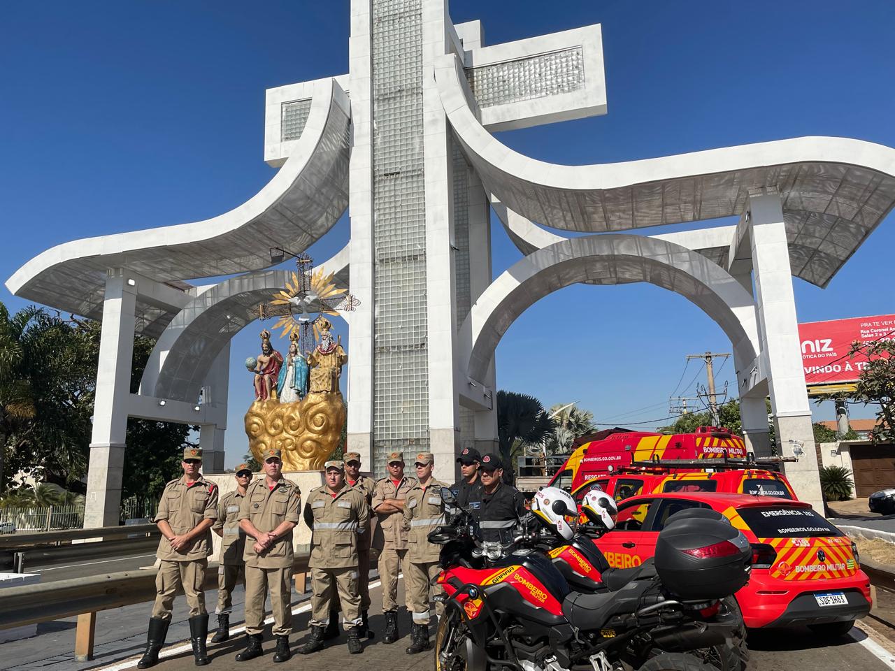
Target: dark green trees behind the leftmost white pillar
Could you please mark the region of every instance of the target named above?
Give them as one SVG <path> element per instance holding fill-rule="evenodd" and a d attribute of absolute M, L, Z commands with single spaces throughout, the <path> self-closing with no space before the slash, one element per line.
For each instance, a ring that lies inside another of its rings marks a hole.
<path fill-rule="evenodd" d="M 10 316 L 0 303 L 0 491 L 18 472 L 83 493 L 99 358 L 100 325 L 33 306 Z M 134 339 L 136 392 L 155 341 Z M 124 496 L 148 497 L 179 472 L 190 427 L 129 420 Z"/>

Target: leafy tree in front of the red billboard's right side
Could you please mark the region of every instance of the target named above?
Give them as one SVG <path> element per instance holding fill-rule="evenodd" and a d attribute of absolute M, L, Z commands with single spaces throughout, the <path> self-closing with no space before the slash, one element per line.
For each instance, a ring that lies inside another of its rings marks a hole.
<path fill-rule="evenodd" d="M 869 360 L 857 377 L 852 398 L 865 406 L 880 406 L 871 439 L 874 443 L 895 440 L 895 340 L 856 342 L 849 353 L 852 357 L 860 353 Z"/>

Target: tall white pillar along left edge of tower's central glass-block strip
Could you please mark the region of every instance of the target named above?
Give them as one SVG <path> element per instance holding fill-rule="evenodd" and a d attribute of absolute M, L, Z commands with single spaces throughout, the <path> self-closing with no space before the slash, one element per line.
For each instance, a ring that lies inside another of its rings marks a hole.
<path fill-rule="evenodd" d="M 351 0 L 348 40 L 352 149 L 349 166 L 351 205 L 351 293 L 360 304 L 351 317 L 347 451 L 361 454 L 373 469 L 373 212 L 372 212 L 372 63 L 370 0 Z"/>

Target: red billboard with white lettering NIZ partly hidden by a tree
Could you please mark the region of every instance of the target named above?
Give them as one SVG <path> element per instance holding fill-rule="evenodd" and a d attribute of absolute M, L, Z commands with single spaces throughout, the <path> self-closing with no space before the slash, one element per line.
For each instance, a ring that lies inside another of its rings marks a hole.
<path fill-rule="evenodd" d="M 867 359 L 860 354 L 849 357 L 851 344 L 856 340 L 866 343 L 888 338 L 895 338 L 895 315 L 799 324 L 798 339 L 802 345 L 805 383 L 823 385 L 857 380 Z"/>

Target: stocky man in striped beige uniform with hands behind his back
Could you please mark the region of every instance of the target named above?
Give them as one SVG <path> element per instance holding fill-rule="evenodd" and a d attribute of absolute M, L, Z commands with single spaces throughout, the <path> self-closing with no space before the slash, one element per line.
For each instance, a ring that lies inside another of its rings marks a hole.
<path fill-rule="evenodd" d="M 326 484 L 311 491 L 304 505 L 304 521 L 311 527 L 311 636 L 302 648 L 307 655 L 320 650 L 336 597 L 347 625 L 348 652 L 363 651 L 358 629 L 361 595 L 357 590 L 357 549 L 370 520 L 363 494 L 345 484 L 345 464 L 326 463 Z"/>

